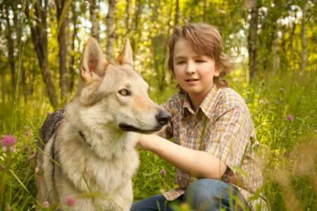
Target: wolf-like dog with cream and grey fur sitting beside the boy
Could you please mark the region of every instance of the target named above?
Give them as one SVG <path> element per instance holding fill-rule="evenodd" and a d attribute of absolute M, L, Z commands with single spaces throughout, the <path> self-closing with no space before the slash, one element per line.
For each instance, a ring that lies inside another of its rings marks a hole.
<path fill-rule="evenodd" d="M 76 200 L 73 210 L 130 210 L 139 133 L 159 131 L 170 115 L 149 98 L 149 85 L 133 68 L 128 39 L 109 63 L 97 40 L 89 38 L 78 84 L 65 113 L 49 132 L 40 132 L 37 200 L 60 210 L 70 197 Z"/>

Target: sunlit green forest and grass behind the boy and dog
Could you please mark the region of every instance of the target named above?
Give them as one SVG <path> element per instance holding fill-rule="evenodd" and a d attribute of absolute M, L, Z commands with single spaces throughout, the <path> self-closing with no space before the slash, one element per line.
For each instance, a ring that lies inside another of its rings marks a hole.
<path fill-rule="evenodd" d="M 128 37 L 135 68 L 163 103 L 177 91 L 166 39 L 189 22 L 216 25 L 236 63 L 228 81 L 266 151 L 262 191 L 273 210 L 317 210 L 316 14 L 312 0 L 0 0 L 0 136 L 17 139 L 0 151 L 0 210 L 35 210 L 39 127 L 73 97 L 88 37 L 109 60 Z M 175 186 L 172 166 L 139 153 L 135 200 Z"/>

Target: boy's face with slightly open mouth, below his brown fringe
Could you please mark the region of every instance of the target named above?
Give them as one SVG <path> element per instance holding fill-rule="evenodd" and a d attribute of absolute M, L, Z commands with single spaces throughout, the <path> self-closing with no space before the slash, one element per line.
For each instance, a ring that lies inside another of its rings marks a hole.
<path fill-rule="evenodd" d="M 176 41 L 173 65 L 178 84 L 190 98 L 205 97 L 213 86 L 213 77 L 220 74 L 215 61 L 196 53 L 186 39 Z"/>

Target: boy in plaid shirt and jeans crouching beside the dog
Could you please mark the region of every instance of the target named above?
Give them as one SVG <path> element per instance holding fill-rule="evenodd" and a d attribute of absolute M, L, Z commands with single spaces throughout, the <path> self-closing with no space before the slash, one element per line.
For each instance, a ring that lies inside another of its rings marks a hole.
<path fill-rule="evenodd" d="M 247 202 L 263 184 L 259 142 L 244 99 L 223 79 L 234 65 L 218 30 L 206 23 L 175 27 L 168 45 L 180 92 L 163 105 L 172 115 L 168 127 L 142 135 L 139 146 L 176 167 L 179 187 L 131 210 L 171 210 L 173 200 L 194 210 L 255 210 L 259 203 L 263 209 L 261 198 Z"/>

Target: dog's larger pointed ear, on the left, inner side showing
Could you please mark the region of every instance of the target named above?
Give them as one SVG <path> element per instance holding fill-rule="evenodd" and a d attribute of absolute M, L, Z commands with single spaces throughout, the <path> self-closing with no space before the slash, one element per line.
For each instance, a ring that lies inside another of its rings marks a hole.
<path fill-rule="evenodd" d="M 107 66 L 108 60 L 104 56 L 98 41 L 90 37 L 82 56 L 80 75 L 86 83 L 89 83 L 94 75 L 103 77 Z"/>

